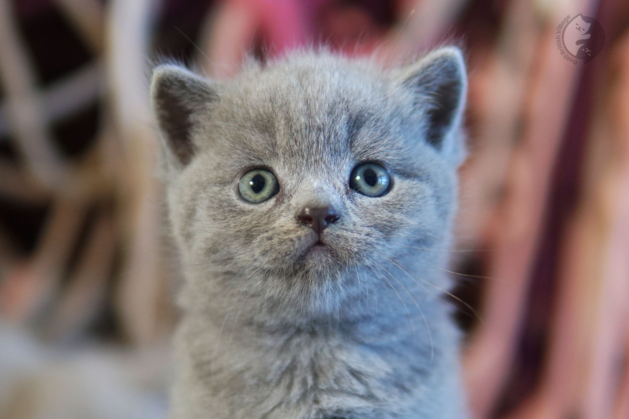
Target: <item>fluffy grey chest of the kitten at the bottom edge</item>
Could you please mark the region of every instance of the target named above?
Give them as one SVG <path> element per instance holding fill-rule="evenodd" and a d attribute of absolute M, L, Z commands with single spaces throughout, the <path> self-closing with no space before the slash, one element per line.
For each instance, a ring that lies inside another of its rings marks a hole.
<path fill-rule="evenodd" d="M 370 417 L 375 406 L 391 410 L 421 400 L 430 373 L 421 362 L 425 354 L 404 342 L 372 346 L 333 330 L 245 332 L 216 342 L 208 347 L 211 356 L 197 354 L 204 361 L 195 371 L 211 398 L 242 402 L 230 413 L 235 417 L 240 410 L 249 417 L 350 417 L 351 411 Z"/>

